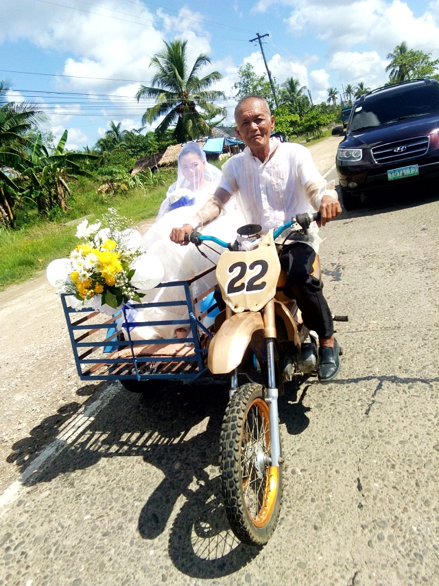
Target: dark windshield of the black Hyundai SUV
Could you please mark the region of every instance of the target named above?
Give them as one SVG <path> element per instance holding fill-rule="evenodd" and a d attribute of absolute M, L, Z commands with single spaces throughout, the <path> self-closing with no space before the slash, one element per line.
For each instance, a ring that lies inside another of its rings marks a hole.
<path fill-rule="evenodd" d="M 405 87 L 366 97 L 355 107 L 350 131 L 360 131 L 425 114 L 439 115 L 439 88 L 436 84 Z"/>

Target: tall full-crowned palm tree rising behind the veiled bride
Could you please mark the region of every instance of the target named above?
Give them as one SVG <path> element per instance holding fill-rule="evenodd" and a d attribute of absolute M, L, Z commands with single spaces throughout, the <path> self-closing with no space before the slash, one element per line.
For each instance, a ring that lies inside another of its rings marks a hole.
<path fill-rule="evenodd" d="M 155 98 L 156 104 L 143 114 L 142 124 L 152 124 L 165 116 L 158 124 L 155 132 L 161 136 L 171 124 L 176 124 L 174 137 L 185 142 L 203 135 L 209 135 L 211 128 L 206 124 L 203 115 L 227 115 L 225 108 L 219 108 L 212 100 L 224 98 L 224 92 L 209 90 L 212 84 L 222 79 L 218 71 L 198 78 L 202 67 L 211 63 L 209 57 L 202 53 L 195 59 L 189 71 L 186 55 L 187 41 L 165 43 L 165 48 L 152 58 L 150 65 L 156 73 L 152 78 L 152 87 L 141 85 L 136 94 L 137 101 L 141 98 Z M 202 110 L 200 113 L 197 106 Z"/>

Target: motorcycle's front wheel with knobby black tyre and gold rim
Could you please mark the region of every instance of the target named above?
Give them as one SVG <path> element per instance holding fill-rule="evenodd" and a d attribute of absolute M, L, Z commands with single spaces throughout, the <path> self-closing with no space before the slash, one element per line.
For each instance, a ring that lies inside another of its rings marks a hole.
<path fill-rule="evenodd" d="M 243 543 L 265 545 L 282 502 L 282 466 L 270 466 L 270 419 L 263 387 L 248 383 L 230 399 L 221 429 L 221 479 L 226 515 Z"/>

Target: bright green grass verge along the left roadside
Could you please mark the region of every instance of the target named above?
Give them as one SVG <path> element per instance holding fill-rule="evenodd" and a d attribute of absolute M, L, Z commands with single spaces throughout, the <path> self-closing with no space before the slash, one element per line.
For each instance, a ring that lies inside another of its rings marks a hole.
<path fill-rule="evenodd" d="M 154 218 L 165 198 L 167 188 L 175 181 L 176 170 L 161 173 L 164 185 L 122 192 L 115 196 L 97 194 L 99 183 L 81 179 L 73 185 L 73 200 L 67 214 L 57 214 L 47 222 L 34 213 L 19 214 L 19 229 L 4 230 L 0 234 L 0 291 L 14 283 L 23 282 L 45 269 L 54 258 L 63 258 L 78 244 L 76 225 L 68 221 L 89 216 L 89 221 L 102 218 L 108 207 L 115 207 L 121 216 L 133 225 Z"/>

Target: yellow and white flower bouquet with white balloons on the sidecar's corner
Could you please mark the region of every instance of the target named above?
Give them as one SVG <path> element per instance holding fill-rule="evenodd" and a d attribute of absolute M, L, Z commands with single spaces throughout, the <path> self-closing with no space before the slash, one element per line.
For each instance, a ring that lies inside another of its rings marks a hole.
<path fill-rule="evenodd" d="M 101 222 L 84 220 L 76 232 L 82 240 L 68 259 L 57 259 L 47 267 L 47 278 L 58 293 L 73 293 L 75 308 L 93 306 L 112 313 L 128 301 L 141 302 L 143 291 L 163 278 L 163 264 L 141 249 L 142 237 L 128 228 L 127 218 L 112 207 Z M 161 266 L 158 266 L 160 263 Z M 152 274 L 150 274 L 152 273 Z"/>

